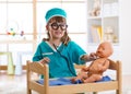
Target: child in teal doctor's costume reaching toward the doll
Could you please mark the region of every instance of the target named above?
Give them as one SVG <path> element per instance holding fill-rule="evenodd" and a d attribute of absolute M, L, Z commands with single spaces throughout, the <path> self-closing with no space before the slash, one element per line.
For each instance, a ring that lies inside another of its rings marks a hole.
<path fill-rule="evenodd" d="M 68 36 L 67 13 L 63 9 L 52 8 L 47 11 L 46 30 L 48 38 L 38 45 L 33 61 L 49 64 L 49 78 L 76 75 L 73 63 L 83 64 L 95 59 Z"/>

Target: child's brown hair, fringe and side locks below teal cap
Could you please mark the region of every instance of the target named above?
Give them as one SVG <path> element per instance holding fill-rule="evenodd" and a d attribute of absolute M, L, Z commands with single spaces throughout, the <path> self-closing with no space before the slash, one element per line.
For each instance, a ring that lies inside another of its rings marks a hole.
<path fill-rule="evenodd" d="M 62 17 L 62 16 L 53 16 L 53 17 L 51 17 L 51 19 L 49 20 L 49 22 L 47 23 L 47 25 L 48 25 L 51 21 L 56 21 L 56 22 L 58 22 L 58 23 L 60 23 L 60 22 L 66 22 L 66 23 L 67 23 L 67 21 L 66 21 L 64 17 Z M 49 38 L 50 38 L 49 32 L 47 32 L 47 36 L 48 36 L 48 37 L 47 37 L 47 38 L 44 38 L 43 40 L 49 40 Z M 67 30 L 66 30 L 64 35 L 63 35 L 63 37 L 61 38 L 61 42 L 63 43 L 63 45 L 67 46 L 70 40 L 71 40 L 71 38 L 69 37 L 68 32 L 67 32 Z"/>

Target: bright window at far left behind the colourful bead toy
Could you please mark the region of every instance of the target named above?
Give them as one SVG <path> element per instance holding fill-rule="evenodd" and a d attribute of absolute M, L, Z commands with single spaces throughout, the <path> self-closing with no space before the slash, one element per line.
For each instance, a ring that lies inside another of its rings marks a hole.
<path fill-rule="evenodd" d="M 21 38 L 21 32 L 33 33 L 33 3 L 19 1 L 0 1 L 0 39 Z M 11 35 L 8 37 L 8 33 Z M 13 35 L 14 34 L 14 35 Z M 32 38 L 33 39 L 33 38 Z"/>

